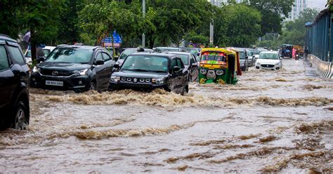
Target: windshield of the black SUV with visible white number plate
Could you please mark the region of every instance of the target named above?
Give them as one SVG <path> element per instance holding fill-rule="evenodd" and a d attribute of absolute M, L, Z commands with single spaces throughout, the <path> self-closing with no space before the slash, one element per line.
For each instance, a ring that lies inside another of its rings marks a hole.
<path fill-rule="evenodd" d="M 93 55 L 92 50 L 80 48 L 56 48 L 45 62 L 89 63 Z"/>

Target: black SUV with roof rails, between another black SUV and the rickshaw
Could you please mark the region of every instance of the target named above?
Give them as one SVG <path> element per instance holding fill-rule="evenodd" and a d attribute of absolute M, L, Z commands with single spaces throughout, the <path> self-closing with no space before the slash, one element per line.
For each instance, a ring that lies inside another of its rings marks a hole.
<path fill-rule="evenodd" d="M 115 65 L 119 67 L 119 65 Z M 164 88 L 175 93 L 188 93 L 188 69 L 180 56 L 167 53 L 133 53 L 119 72 L 112 74 L 110 90 Z"/>

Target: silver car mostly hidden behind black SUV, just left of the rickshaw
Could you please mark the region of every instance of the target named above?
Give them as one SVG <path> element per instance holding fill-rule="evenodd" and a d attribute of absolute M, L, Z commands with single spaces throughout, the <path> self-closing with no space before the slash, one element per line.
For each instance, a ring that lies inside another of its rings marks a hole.
<path fill-rule="evenodd" d="M 188 81 L 197 81 L 199 75 L 198 62 L 192 53 L 174 52 L 174 51 L 166 53 L 171 53 L 180 56 L 181 60 L 183 61 L 183 64 L 185 65 L 185 69 L 188 69 L 189 72 Z"/>

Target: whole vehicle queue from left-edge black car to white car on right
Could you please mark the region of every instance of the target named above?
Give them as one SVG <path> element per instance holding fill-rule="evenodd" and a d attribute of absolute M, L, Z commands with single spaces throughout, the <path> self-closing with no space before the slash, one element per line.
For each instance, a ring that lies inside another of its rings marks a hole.
<path fill-rule="evenodd" d="M 163 88 L 184 95 L 189 82 L 237 83 L 249 66 L 282 67 L 278 52 L 251 48 L 125 48 L 119 58 L 102 46 L 46 46 L 44 58 L 29 71 L 31 53 L 0 34 L 0 128 L 26 129 L 29 88 L 75 91 L 152 91 Z M 261 53 L 260 53 L 261 52 Z M 273 60 L 273 61 L 270 61 Z"/>

